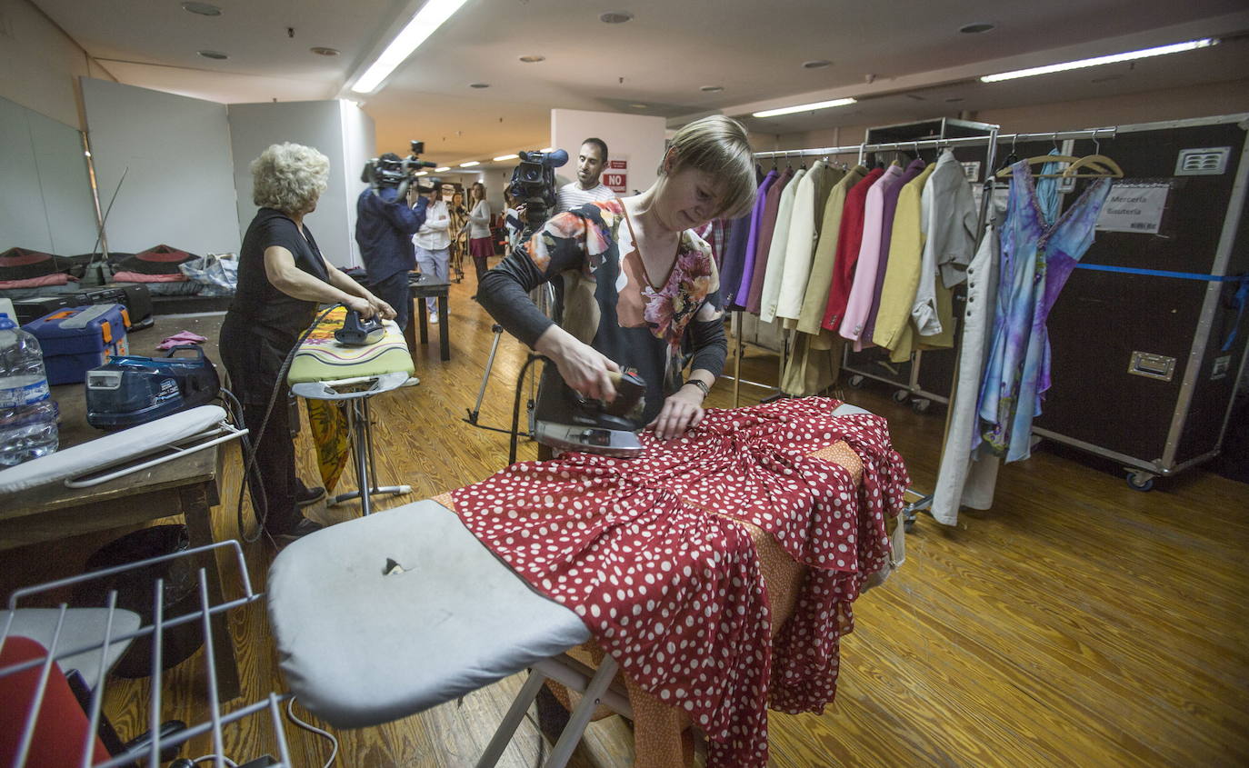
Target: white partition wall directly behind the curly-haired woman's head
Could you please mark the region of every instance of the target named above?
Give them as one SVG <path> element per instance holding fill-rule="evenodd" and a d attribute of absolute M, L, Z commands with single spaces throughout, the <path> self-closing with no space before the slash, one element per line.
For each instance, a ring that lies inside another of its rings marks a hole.
<path fill-rule="evenodd" d="M 235 156 L 234 186 L 239 190 L 237 229 L 246 232 L 256 216 L 256 205 L 251 200 L 251 161 L 271 144 L 302 144 L 330 159 L 330 186 L 317 201 L 316 211 L 304 217 L 304 224 L 331 263 L 360 263 L 355 244 L 356 196 L 365 189 L 360 181 L 363 161 L 372 156 L 372 126 L 363 120 L 367 117 L 362 117 L 358 107 L 347 101 L 231 104 L 230 144 Z M 350 160 L 346 150 L 348 137 L 352 141 Z"/>

